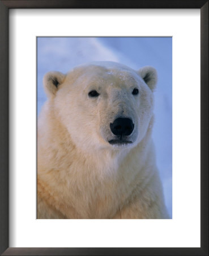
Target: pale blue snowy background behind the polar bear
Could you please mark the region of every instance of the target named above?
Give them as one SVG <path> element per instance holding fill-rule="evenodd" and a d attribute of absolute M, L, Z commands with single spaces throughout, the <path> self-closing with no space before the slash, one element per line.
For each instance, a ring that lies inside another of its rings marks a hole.
<path fill-rule="evenodd" d="M 133 69 L 157 69 L 153 139 L 163 181 L 165 203 L 172 218 L 172 38 L 37 38 L 37 114 L 46 100 L 46 72 L 68 72 L 89 61 L 116 61 Z"/>

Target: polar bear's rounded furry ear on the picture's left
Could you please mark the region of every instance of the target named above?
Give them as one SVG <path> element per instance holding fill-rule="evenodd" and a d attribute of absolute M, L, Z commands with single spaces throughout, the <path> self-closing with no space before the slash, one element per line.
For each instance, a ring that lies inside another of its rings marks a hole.
<path fill-rule="evenodd" d="M 58 87 L 65 79 L 65 75 L 61 72 L 51 71 L 46 73 L 43 79 L 45 93 L 48 97 L 56 94 Z"/>

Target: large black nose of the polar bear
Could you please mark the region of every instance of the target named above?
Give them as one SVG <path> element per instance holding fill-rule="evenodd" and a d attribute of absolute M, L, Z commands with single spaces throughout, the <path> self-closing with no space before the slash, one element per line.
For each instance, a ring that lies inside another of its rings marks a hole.
<path fill-rule="evenodd" d="M 134 130 L 134 123 L 129 118 L 117 118 L 110 123 L 110 130 L 114 135 L 130 135 Z"/>

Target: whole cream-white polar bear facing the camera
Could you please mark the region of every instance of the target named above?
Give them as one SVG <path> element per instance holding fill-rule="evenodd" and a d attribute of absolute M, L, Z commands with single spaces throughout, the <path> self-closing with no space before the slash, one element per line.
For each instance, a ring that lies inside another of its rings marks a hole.
<path fill-rule="evenodd" d="M 44 76 L 37 218 L 169 218 L 152 142 L 156 70 L 110 61 Z"/>

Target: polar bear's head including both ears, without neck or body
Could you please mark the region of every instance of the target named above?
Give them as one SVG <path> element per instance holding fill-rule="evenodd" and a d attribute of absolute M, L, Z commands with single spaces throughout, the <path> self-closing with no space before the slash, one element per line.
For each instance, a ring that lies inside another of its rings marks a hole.
<path fill-rule="evenodd" d="M 49 72 L 44 86 L 56 118 L 76 146 L 95 151 L 135 147 L 153 114 L 155 69 L 90 63 L 63 75 Z"/>

